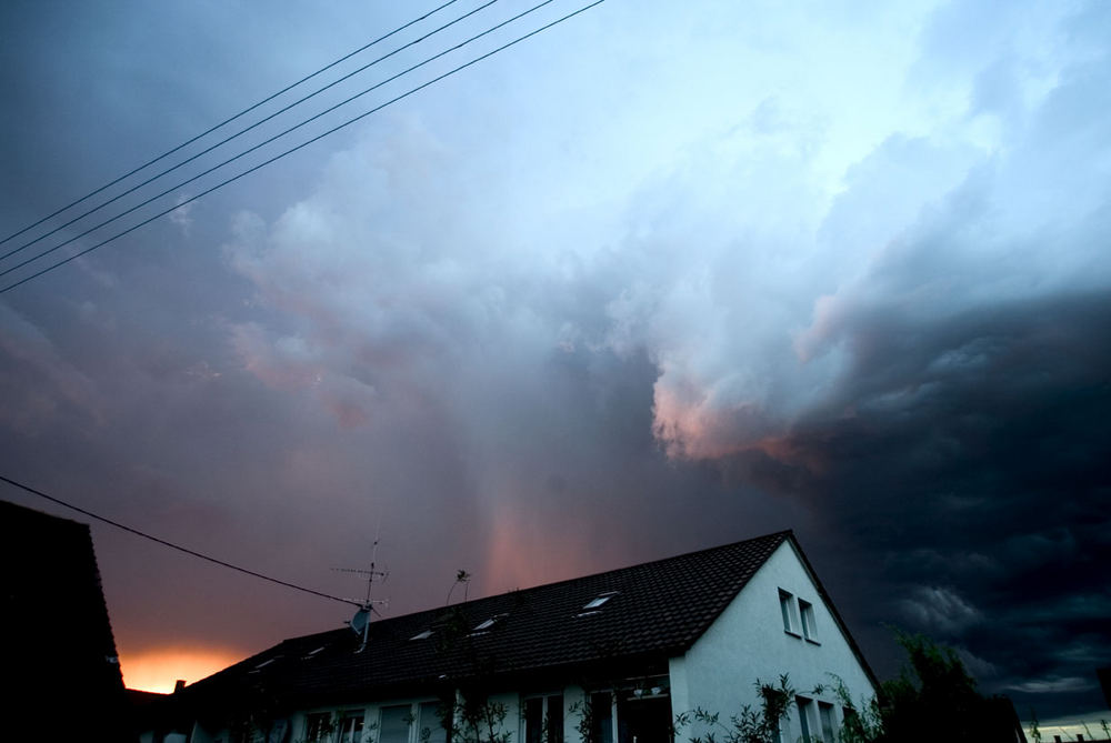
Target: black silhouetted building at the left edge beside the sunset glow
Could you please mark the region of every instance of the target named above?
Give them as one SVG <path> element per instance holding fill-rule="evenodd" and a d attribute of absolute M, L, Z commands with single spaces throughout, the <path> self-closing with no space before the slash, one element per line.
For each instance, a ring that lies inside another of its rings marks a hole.
<path fill-rule="evenodd" d="M 89 526 L 0 501 L 0 545 L 6 740 L 136 740 Z"/>

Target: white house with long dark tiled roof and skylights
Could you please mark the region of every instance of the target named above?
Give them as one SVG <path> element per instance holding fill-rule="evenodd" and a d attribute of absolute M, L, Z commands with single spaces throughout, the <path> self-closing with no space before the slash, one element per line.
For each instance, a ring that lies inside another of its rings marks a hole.
<path fill-rule="evenodd" d="M 287 640 L 171 695 L 159 734 L 669 743 L 677 714 L 728 720 L 787 673 L 782 740 L 829 741 L 851 714 L 831 674 L 853 700 L 875 689 L 791 532 L 383 619 L 361 644 L 348 627 Z"/>

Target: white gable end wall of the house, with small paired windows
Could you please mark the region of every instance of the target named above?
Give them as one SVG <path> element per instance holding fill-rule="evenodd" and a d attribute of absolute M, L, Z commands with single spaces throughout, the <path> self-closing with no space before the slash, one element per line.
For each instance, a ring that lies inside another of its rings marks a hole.
<path fill-rule="evenodd" d="M 815 641 L 784 631 L 781 590 L 791 593 L 795 602 L 802 599 L 813 605 Z M 789 541 L 757 571 L 687 654 L 672 659 L 670 673 L 674 714 L 701 707 L 720 713 L 722 721 L 738 714 L 745 704 L 759 710 L 757 680 L 778 683 L 783 673 L 789 675 L 797 693 L 833 704 L 839 723 L 841 704 L 832 690 L 821 694 L 812 694 L 810 690 L 829 686 L 830 674 L 835 674 L 858 705 L 862 697 L 874 694 L 867 673 Z M 801 740 L 793 700 L 791 706 L 791 719 L 783 731 L 784 743 Z M 688 727 L 680 731 L 677 741 L 703 730 Z"/>

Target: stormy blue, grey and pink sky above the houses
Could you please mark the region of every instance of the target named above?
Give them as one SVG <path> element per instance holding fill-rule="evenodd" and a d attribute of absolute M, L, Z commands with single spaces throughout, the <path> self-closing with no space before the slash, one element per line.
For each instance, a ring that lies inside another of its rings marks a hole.
<path fill-rule="evenodd" d="M 0 4 L 0 232 L 437 4 Z M 1100 710 L 1111 3 L 607 0 L 189 201 L 581 4 L 383 82 L 530 7 L 0 261 L 172 210 L 0 293 L 2 474 L 343 596 L 377 539 L 386 615 L 793 529 L 881 677 L 895 626 L 1023 716 Z M 350 618 L 92 532 L 132 686 Z"/>

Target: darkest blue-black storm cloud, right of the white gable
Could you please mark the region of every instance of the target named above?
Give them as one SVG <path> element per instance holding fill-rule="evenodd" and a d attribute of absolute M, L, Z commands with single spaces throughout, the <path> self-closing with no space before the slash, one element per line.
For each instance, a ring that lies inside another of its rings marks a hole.
<path fill-rule="evenodd" d="M 867 394 L 789 435 L 790 461 L 809 462 L 790 494 L 883 560 L 872 620 L 991 659 L 994 689 L 1082 677 L 1092 690 L 1111 656 L 1111 295 L 999 305 L 925 333 L 874 320 Z M 952 361 L 931 373 L 938 359 Z"/>

